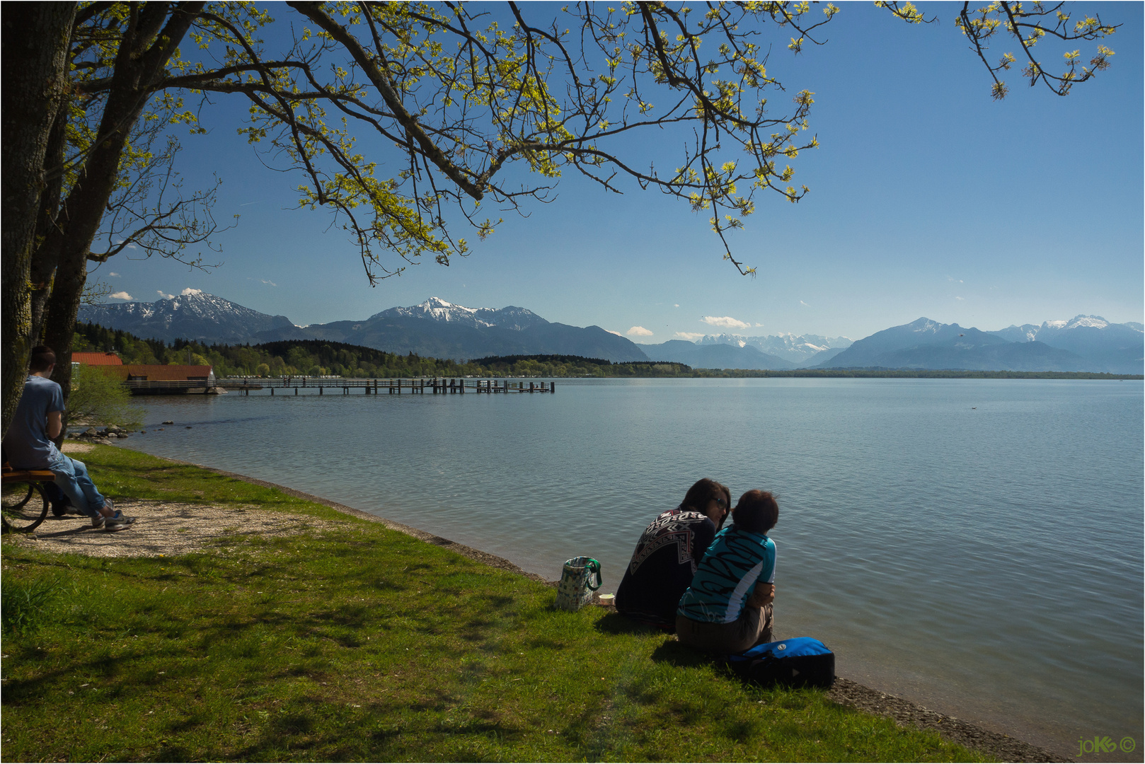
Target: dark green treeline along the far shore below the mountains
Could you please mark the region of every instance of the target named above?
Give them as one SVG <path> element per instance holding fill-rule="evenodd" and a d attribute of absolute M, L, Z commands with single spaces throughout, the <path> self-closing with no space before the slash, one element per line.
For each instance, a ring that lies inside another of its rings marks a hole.
<path fill-rule="evenodd" d="M 1084 371 L 974 371 L 963 369 L 693 369 L 671 362 L 611 362 L 577 355 L 504 355 L 453 361 L 414 353 L 386 353 L 329 340 L 284 340 L 259 345 L 206 345 L 176 339 L 142 339 L 98 324 L 76 324 L 74 351 L 114 352 L 124 363 L 210 365 L 216 377 L 338 376 L 395 377 L 664 377 L 664 378 L 918 378 L 918 379 L 1143 379 L 1142 375 Z"/>

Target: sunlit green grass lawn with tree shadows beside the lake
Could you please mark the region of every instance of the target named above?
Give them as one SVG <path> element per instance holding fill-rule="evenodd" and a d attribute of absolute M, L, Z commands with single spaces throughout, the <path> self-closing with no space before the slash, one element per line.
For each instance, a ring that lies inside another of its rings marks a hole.
<path fill-rule="evenodd" d="M 85 462 L 116 498 L 342 522 L 175 558 L 6 539 L 7 761 L 982 761 L 378 523 L 121 449 Z M 49 593 L 9 629 L 18 591 Z"/>

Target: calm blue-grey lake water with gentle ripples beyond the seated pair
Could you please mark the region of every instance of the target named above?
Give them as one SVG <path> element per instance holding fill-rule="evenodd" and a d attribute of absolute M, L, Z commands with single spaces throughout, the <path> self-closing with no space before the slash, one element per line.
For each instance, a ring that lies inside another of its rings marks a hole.
<path fill-rule="evenodd" d="M 325 496 L 548 578 L 711 476 L 780 497 L 776 629 L 838 674 L 1077 756 L 1142 737 L 1143 385 L 558 380 L 555 395 L 140 399 L 129 448 Z M 157 432 L 164 419 L 176 426 Z M 191 430 L 184 426 L 190 425 Z"/>

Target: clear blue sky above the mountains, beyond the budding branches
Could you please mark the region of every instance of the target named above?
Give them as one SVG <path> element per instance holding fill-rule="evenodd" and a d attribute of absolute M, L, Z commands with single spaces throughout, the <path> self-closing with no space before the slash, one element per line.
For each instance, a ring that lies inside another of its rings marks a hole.
<path fill-rule="evenodd" d="M 961 3 L 922 7 L 939 23 L 907 26 L 843 3 L 827 45 L 798 57 L 774 36 L 769 72 L 789 93 L 815 93 L 821 148 L 791 163 L 795 182 L 811 187 L 799 204 L 758 197 L 733 235 L 753 278 L 721 260 L 708 215 L 634 184 L 614 195 L 568 175 L 554 203 L 505 213 L 484 242 L 458 227 L 469 257 L 370 288 L 331 216 L 293 208 L 301 179 L 266 168 L 235 134 L 246 110 L 237 99 L 204 112 L 208 135 L 181 139 L 187 186 L 218 174 L 215 216 L 240 215 L 216 236 L 222 252 L 206 253 L 222 265 L 119 255 L 93 275 L 136 300 L 200 289 L 299 324 L 436 296 L 642 342 L 728 330 L 858 339 L 919 316 L 984 330 L 1080 313 L 1142 321 L 1143 5 L 1079 5 L 1076 17 L 1097 9 L 1122 24 L 1106 42 L 1113 66 L 1064 99 L 1014 71 L 1002 102 L 954 26 Z M 1092 44 L 1081 49 L 1088 58 Z M 1060 49 L 1047 58 L 1056 69 Z M 634 326 L 652 333 L 629 334 Z"/>

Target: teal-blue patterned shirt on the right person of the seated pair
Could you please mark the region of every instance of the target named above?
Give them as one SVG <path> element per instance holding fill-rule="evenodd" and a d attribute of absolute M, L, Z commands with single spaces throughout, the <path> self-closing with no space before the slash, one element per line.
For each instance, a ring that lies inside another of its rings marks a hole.
<path fill-rule="evenodd" d="M 732 623 L 760 581 L 775 582 L 775 542 L 733 525 L 716 534 L 676 612 L 703 623 Z"/>

